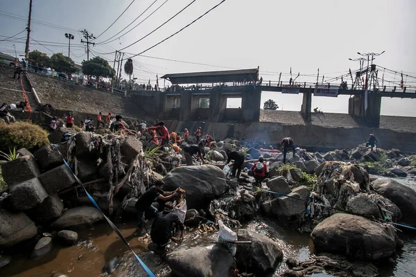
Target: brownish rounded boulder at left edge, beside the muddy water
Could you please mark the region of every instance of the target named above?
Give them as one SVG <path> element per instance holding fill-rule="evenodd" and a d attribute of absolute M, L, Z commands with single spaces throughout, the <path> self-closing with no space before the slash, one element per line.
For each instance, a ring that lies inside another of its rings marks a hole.
<path fill-rule="evenodd" d="M 24 213 L 0 209 L 0 249 L 12 247 L 37 235 L 35 222 Z"/>

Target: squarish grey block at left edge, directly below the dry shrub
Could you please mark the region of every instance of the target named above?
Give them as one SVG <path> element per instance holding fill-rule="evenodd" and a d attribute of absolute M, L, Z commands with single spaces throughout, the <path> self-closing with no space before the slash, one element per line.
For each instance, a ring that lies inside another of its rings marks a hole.
<path fill-rule="evenodd" d="M 33 156 L 19 156 L 12 161 L 1 163 L 1 175 L 10 188 L 15 184 L 37 177 L 40 175 L 40 170 Z"/>

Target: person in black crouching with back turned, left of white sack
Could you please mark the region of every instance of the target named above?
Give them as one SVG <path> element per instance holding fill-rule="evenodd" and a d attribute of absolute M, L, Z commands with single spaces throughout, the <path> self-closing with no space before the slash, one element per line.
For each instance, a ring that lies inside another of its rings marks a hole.
<path fill-rule="evenodd" d="M 180 230 L 180 240 L 184 238 L 184 224 L 176 213 L 173 213 L 173 204 L 166 203 L 165 211 L 157 213 L 150 229 L 150 239 L 157 244 L 158 250 L 163 251 L 170 240 L 175 240 L 173 235 Z"/>

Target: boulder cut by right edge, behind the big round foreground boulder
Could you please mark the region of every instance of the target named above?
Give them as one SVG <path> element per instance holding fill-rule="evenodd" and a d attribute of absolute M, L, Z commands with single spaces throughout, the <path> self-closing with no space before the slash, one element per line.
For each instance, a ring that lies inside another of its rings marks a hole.
<path fill-rule="evenodd" d="M 374 190 L 376 190 L 376 193 L 390 199 L 391 202 L 399 207 L 402 222 L 415 226 L 416 190 L 390 178 L 376 179 L 376 181 L 372 183 L 372 186 Z"/>

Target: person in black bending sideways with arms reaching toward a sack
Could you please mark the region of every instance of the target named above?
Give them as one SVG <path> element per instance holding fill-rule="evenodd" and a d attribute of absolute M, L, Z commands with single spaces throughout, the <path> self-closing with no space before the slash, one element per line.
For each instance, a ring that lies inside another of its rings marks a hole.
<path fill-rule="evenodd" d="M 144 226 L 144 217 L 154 217 L 157 213 L 157 208 L 153 206 L 156 199 L 168 201 L 177 195 L 177 191 L 163 191 L 164 181 L 157 180 L 153 186 L 146 190 L 146 192 L 137 199 L 135 207 L 137 209 L 137 228 Z"/>

